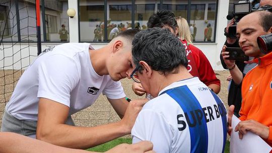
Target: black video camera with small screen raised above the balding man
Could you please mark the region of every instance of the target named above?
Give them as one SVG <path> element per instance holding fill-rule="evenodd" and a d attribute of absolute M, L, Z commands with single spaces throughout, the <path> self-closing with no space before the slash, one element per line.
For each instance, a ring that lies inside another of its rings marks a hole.
<path fill-rule="evenodd" d="M 230 38 L 236 38 L 236 25 L 237 23 L 247 14 L 258 10 L 258 1 L 239 1 L 239 3 L 235 3 L 233 7 L 232 14 L 227 16 L 228 20 L 234 18 L 234 25 L 229 27 L 229 32 L 225 31 L 225 36 Z M 261 7 L 262 8 L 262 7 Z M 262 9 L 265 10 L 265 9 Z"/>

